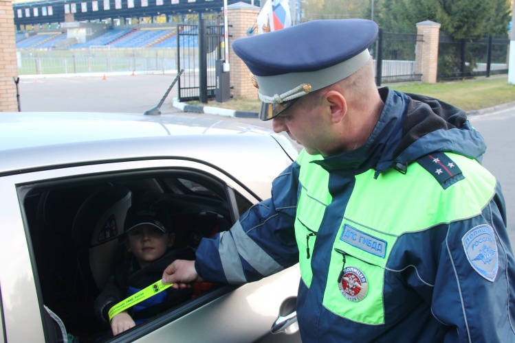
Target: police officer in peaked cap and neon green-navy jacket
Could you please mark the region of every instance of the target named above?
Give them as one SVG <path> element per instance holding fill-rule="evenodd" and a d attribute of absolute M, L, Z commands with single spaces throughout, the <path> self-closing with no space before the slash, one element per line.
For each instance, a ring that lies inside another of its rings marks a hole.
<path fill-rule="evenodd" d="M 311 21 L 235 40 L 260 119 L 305 149 L 272 198 L 164 283 L 246 283 L 299 263 L 305 342 L 514 342 L 514 257 L 485 143 L 459 108 L 377 89 L 377 25 Z"/>

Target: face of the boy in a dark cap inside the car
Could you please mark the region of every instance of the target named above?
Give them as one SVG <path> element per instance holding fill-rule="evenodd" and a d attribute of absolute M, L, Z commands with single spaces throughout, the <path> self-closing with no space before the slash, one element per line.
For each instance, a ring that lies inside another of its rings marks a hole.
<path fill-rule="evenodd" d="M 141 267 L 159 259 L 166 249 L 173 246 L 175 235 L 163 233 L 162 230 L 149 224 L 137 226 L 129 231 L 127 250 L 138 259 Z"/>

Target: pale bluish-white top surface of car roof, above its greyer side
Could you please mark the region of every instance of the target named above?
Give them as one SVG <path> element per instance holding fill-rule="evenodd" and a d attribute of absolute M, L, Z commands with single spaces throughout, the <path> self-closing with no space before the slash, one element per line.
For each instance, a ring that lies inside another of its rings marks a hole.
<path fill-rule="evenodd" d="M 270 130 L 258 126 L 186 115 L 3 113 L 0 150 L 109 139 L 243 132 L 270 134 Z"/>

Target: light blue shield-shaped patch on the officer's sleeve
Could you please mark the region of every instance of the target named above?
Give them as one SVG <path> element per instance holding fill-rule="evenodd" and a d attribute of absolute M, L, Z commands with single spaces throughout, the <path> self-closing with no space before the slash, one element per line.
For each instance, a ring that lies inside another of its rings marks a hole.
<path fill-rule="evenodd" d="M 471 228 L 463 235 L 461 242 L 472 268 L 483 278 L 494 282 L 499 265 L 497 241 L 492 226 L 479 225 Z"/>

